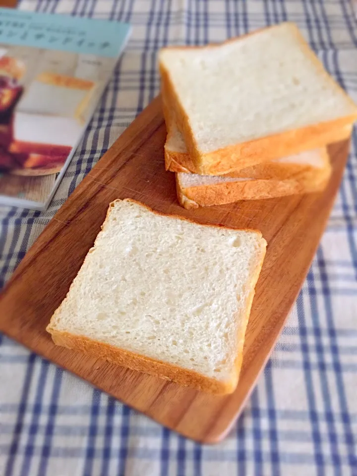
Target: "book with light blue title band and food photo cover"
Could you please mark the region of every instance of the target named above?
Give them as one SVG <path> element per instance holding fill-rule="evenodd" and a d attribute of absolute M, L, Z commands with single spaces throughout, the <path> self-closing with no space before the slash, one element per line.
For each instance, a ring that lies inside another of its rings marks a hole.
<path fill-rule="evenodd" d="M 129 32 L 0 8 L 0 204 L 47 208 Z"/>

